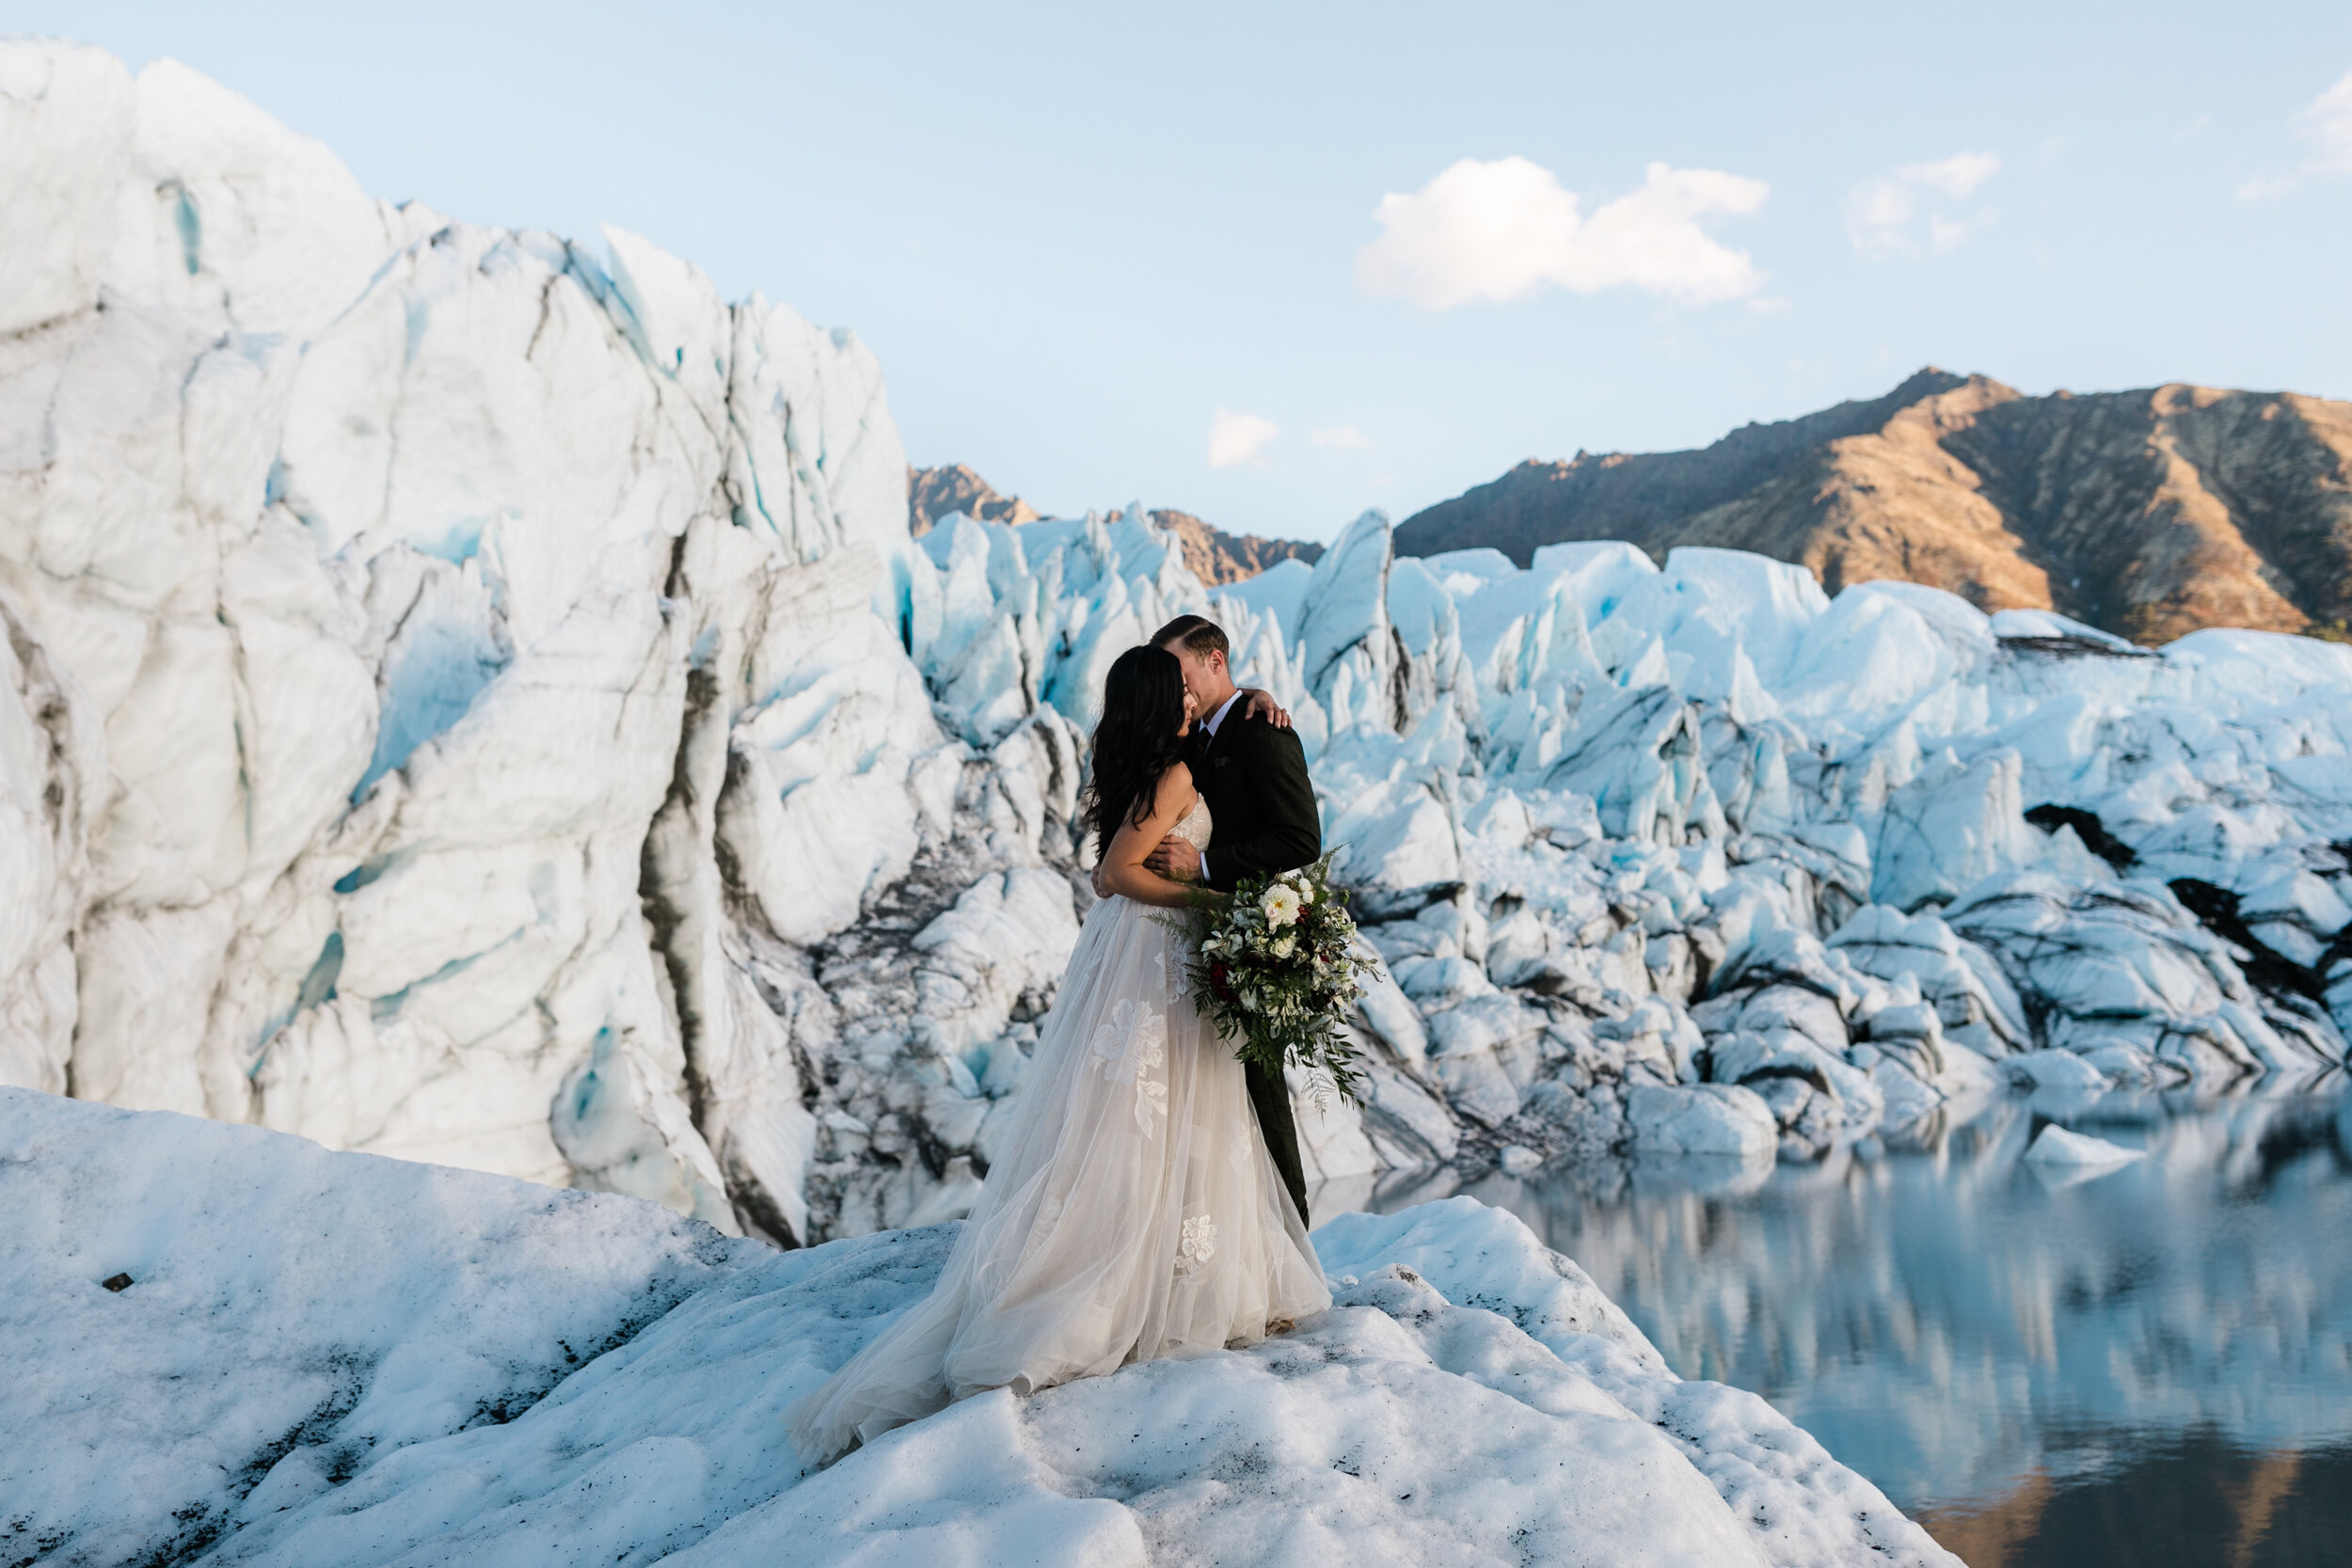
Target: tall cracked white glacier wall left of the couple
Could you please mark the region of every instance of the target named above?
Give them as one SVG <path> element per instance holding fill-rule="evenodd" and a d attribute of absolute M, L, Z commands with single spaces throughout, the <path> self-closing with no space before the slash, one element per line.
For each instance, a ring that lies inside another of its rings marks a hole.
<path fill-rule="evenodd" d="M 0 113 L 0 1077 L 793 1225 L 720 856 L 807 940 L 957 783 L 873 357 L 169 61 Z"/>

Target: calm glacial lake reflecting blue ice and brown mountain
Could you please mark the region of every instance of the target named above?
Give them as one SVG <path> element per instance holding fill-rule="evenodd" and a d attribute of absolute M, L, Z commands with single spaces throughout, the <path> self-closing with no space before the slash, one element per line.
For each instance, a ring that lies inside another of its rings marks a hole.
<path fill-rule="evenodd" d="M 2025 1161 L 2046 1121 L 2145 1150 Z M 1336 1187 L 1338 1182 L 1334 1182 Z M 1820 1164 L 1390 1178 L 1576 1258 L 1971 1568 L 2352 1561 L 2352 1095 L 1999 1098 Z"/>

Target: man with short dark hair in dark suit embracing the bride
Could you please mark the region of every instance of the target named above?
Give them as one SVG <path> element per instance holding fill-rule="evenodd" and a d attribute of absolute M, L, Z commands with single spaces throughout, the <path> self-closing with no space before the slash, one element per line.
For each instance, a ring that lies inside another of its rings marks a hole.
<path fill-rule="evenodd" d="M 1232 684 L 1232 646 L 1214 621 L 1176 616 L 1152 637 L 1183 665 L 1185 691 L 1200 719 L 1185 750 L 1192 785 L 1209 802 L 1209 849 L 1188 839 L 1160 839 L 1150 865 L 1174 882 L 1204 882 L 1230 893 L 1242 877 L 1265 877 L 1310 865 L 1322 853 L 1322 818 L 1315 811 L 1315 785 L 1308 783 L 1308 755 L 1284 724 L 1258 717 L 1256 703 L 1242 701 Z M 1270 703 L 1268 703 L 1270 705 Z M 1279 1072 L 1247 1065 L 1249 1103 L 1258 1107 L 1265 1150 L 1275 1157 L 1282 1185 L 1308 1220 L 1305 1168 L 1298 1164 L 1298 1124 L 1291 1119 L 1291 1091 Z"/>

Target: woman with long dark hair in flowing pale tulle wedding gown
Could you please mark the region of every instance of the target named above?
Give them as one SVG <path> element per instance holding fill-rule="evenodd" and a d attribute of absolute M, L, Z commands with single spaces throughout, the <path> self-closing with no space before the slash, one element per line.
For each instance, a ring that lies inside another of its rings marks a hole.
<path fill-rule="evenodd" d="M 1331 1305 L 1242 1063 L 1192 1011 L 1178 910 L 1200 893 L 1143 865 L 1171 832 L 1209 844 L 1190 719 L 1174 654 L 1110 665 L 1084 802 L 1110 896 L 1080 929 L 1007 1154 L 931 1295 L 786 1413 L 804 1460 L 967 1394 L 1256 1345 Z"/>

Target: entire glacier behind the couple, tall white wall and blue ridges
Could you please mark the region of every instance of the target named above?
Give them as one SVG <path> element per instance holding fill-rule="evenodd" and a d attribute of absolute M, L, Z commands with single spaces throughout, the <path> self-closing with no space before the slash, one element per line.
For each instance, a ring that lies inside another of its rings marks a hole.
<path fill-rule="evenodd" d="M 2352 649 L 1378 515 L 1216 595 L 1141 508 L 917 543 L 849 334 L 386 207 L 167 61 L 0 45 L 0 1081 L 953 1218 L 1101 672 L 1178 611 L 1296 710 L 1388 959 L 1324 1211 L 2343 1060 Z"/>

